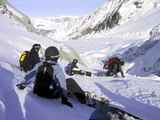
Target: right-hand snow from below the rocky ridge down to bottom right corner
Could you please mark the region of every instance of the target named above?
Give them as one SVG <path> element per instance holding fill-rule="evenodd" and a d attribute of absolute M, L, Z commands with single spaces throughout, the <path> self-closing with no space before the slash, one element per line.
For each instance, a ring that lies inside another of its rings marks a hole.
<path fill-rule="evenodd" d="M 145 120 L 158 120 L 160 117 L 160 78 L 153 75 L 159 75 L 159 11 L 159 8 L 150 9 L 136 20 L 130 19 L 108 32 L 65 42 L 88 60 L 91 69 L 102 70 L 103 60 L 113 55 L 121 56 L 127 62 L 125 79 L 94 79 L 106 96 L 127 109 L 134 109 Z"/>

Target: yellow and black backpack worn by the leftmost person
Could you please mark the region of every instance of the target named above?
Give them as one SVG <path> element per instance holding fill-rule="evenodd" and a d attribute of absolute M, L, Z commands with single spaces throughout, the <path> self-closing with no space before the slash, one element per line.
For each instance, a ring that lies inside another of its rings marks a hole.
<path fill-rule="evenodd" d="M 19 58 L 20 68 L 25 72 L 29 70 L 28 63 L 27 63 L 27 61 L 29 60 L 29 54 L 30 54 L 29 51 L 24 51 L 21 53 Z"/>

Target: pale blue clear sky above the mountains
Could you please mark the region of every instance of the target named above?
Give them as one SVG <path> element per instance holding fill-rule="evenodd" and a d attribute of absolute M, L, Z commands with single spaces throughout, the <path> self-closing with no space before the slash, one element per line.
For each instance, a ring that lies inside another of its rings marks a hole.
<path fill-rule="evenodd" d="M 106 0 L 8 0 L 29 16 L 82 16 L 93 12 Z"/>

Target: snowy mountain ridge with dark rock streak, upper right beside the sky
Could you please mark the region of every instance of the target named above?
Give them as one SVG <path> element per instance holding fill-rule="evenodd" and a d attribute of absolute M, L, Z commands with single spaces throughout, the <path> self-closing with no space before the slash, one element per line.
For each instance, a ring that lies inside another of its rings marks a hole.
<path fill-rule="evenodd" d="M 159 0 L 110 0 L 91 15 L 83 18 L 70 33 L 72 38 L 107 30 L 115 24 L 137 20 L 152 9 L 160 6 Z M 118 14 L 116 14 L 118 13 Z"/>

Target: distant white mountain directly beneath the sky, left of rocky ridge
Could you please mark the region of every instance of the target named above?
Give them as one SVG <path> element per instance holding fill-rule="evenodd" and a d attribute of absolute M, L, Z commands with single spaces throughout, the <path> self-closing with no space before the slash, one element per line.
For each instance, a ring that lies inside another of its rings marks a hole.
<path fill-rule="evenodd" d="M 76 16 L 60 17 L 31 17 L 34 27 L 39 33 L 63 41 L 70 31 L 82 18 Z"/>

